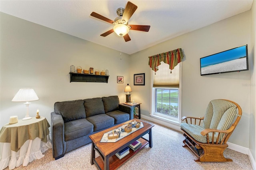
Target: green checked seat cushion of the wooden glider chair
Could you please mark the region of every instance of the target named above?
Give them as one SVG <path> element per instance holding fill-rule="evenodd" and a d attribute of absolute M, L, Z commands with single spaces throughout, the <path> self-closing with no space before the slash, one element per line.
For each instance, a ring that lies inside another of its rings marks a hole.
<path fill-rule="evenodd" d="M 192 138 L 201 143 L 207 143 L 206 135 L 203 136 L 201 132 L 204 130 L 202 126 L 181 123 L 180 128 L 186 131 Z M 214 135 L 214 142 L 217 140 L 218 133 Z M 209 133 L 209 141 L 212 142 L 212 132 Z"/>

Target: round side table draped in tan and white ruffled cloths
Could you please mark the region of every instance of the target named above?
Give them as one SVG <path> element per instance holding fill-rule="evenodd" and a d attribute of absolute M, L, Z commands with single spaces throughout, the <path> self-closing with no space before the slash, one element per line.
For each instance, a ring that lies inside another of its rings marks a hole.
<path fill-rule="evenodd" d="M 5 124 L 0 130 L 0 170 L 27 166 L 28 162 L 44 157 L 42 152 L 52 148 L 49 127 L 44 117 Z"/>

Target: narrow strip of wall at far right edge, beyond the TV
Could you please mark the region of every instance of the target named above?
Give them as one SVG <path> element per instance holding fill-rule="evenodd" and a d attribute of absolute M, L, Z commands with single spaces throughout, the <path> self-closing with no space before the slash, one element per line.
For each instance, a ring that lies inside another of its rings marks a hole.
<path fill-rule="evenodd" d="M 250 127 L 249 127 L 249 148 L 252 156 L 254 158 L 254 165 L 256 160 L 256 131 L 255 131 L 255 112 L 256 112 L 256 1 L 254 0 L 251 9 L 251 50 L 250 54 L 252 56 L 251 60 L 251 70 L 250 70 Z"/>

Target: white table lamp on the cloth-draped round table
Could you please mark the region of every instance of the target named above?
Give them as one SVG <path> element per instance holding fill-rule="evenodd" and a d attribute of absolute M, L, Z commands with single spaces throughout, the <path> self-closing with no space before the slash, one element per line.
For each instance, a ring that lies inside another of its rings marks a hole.
<path fill-rule="evenodd" d="M 20 88 L 20 90 L 16 93 L 14 98 L 12 99 L 12 102 L 26 102 L 24 103 L 26 105 L 27 111 L 26 116 L 22 120 L 28 120 L 31 119 L 31 117 L 28 114 L 28 106 L 30 101 L 39 100 L 38 96 L 36 95 L 36 92 L 33 88 Z"/>

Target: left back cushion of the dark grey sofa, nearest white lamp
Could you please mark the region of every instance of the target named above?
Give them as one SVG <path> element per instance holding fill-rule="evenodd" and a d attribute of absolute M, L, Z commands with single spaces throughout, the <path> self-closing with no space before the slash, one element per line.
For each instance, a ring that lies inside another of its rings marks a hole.
<path fill-rule="evenodd" d="M 84 100 L 56 102 L 54 112 L 60 114 L 64 122 L 86 118 Z"/>

